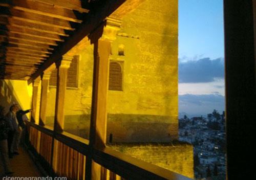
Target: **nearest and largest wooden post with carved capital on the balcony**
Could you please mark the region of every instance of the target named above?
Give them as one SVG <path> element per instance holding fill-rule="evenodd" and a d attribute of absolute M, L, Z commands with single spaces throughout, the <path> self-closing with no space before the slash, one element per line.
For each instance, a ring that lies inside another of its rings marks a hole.
<path fill-rule="evenodd" d="M 111 54 L 111 42 L 115 40 L 120 25 L 120 20 L 108 18 L 89 37 L 91 43 L 94 44 L 93 98 L 90 124 L 91 148 L 101 149 L 105 147 L 106 143 L 109 56 Z M 87 157 L 86 166 L 86 179 L 101 179 L 101 166 L 93 162 L 91 157 Z"/>

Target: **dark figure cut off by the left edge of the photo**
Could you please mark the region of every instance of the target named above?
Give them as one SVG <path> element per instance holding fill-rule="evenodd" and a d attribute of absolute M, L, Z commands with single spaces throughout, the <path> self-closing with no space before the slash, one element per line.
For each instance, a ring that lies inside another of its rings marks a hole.
<path fill-rule="evenodd" d="M 12 174 L 12 170 L 8 158 L 8 123 L 4 116 L 4 107 L 0 106 L 0 164 L 4 167 L 5 174 Z"/>

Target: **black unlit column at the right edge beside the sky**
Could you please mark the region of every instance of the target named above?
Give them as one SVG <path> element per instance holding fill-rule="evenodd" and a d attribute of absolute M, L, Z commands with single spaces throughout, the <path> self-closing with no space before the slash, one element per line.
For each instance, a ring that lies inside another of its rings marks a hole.
<path fill-rule="evenodd" d="M 224 0 L 224 22 L 227 177 L 255 179 L 256 91 L 252 1 Z"/>

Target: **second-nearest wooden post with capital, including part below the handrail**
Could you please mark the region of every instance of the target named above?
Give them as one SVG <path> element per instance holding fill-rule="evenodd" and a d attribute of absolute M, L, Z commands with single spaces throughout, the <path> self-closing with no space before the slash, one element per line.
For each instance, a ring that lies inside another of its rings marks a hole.
<path fill-rule="evenodd" d="M 64 129 L 64 103 L 65 92 L 67 86 L 68 69 L 70 67 L 73 57 L 63 56 L 62 60 L 57 64 L 57 89 L 56 89 L 56 103 L 55 103 L 55 118 L 54 118 L 54 136 L 56 133 L 62 132 Z M 53 137 L 52 146 L 52 167 L 54 171 L 57 170 L 58 162 L 58 142 Z M 61 157 L 60 157 L 61 158 Z"/>

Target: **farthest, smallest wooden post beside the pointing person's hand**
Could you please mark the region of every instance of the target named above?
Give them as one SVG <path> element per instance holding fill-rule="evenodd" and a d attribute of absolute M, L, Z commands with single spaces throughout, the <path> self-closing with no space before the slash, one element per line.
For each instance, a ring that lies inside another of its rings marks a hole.
<path fill-rule="evenodd" d="M 37 97 L 38 97 L 38 86 L 39 86 L 39 83 L 40 83 L 40 78 L 37 78 L 34 80 L 33 82 L 33 94 L 32 94 L 32 114 L 31 114 L 31 122 L 34 122 L 34 123 L 38 123 L 36 122 L 36 115 L 39 113 L 39 109 L 37 108 L 37 104 L 39 103 L 38 100 L 37 100 Z"/>

